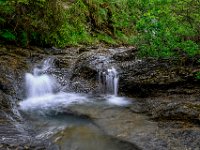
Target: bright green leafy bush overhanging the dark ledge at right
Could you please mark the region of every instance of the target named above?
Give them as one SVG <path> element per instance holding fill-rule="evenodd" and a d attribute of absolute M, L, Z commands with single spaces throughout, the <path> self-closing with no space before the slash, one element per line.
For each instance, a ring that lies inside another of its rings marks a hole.
<path fill-rule="evenodd" d="M 200 39 L 192 41 L 192 37 L 198 35 L 200 26 L 190 23 L 194 12 L 196 15 L 200 14 L 197 7 L 192 8 L 189 1 L 186 3 L 182 0 L 152 0 L 150 2 L 148 10 L 136 23 L 138 35 L 135 44 L 140 49 L 139 55 L 161 58 L 178 57 L 182 53 L 176 53 L 176 49 L 180 49 L 188 56 L 200 54 L 198 45 Z M 182 9 L 188 11 L 183 12 Z M 195 20 L 195 18 L 192 19 L 192 21 Z"/>

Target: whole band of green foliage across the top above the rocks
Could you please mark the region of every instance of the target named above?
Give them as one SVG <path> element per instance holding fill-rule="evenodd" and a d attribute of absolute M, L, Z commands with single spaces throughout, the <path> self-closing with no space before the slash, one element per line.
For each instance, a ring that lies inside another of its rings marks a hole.
<path fill-rule="evenodd" d="M 198 0 L 0 0 L 0 40 L 21 46 L 136 45 L 142 57 L 199 55 Z"/>

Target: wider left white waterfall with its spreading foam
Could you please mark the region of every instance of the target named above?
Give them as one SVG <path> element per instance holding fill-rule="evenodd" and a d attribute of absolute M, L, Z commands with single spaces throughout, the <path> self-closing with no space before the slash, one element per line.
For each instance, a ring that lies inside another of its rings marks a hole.
<path fill-rule="evenodd" d="M 20 109 L 42 111 L 68 106 L 73 103 L 83 103 L 86 97 L 80 94 L 56 92 L 58 84 L 53 76 L 47 74 L 51 68 L 52 59 L 44 61 L 42 67 L 36 67 L 33 74 L 26 73 L 27 99 L 20 102 Z"/>

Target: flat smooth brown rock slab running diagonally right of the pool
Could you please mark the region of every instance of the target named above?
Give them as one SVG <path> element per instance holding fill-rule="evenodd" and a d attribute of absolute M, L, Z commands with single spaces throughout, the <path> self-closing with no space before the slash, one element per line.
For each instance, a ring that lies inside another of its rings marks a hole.
<path fill-rule="evenodd" d="M 133 105 L 135 105 L 135 103 Z M 166 127 L 165 124 L 160 127 L 158 123 L 149 120 L 148 117 L 142 114 L 132 112 L 129 108 L 76 105 L 70 106 L 68 109 L 72 112 L 79 112 L 80 114 L 89 116 L 90 119 L 93 120 L 93 124 L 103 131 L 104 134 L 108 134 L 121 141 L 130 142 L 141 149 L 182 150 L 185 147 L 190 148 L 191 145 L 187 146 L 186 143 L 193 139 L 190 132 L 188 133 L 187 139 L 186 135 L 183 137 L 181 136 L 182 132 L 185 134 L 187 130 L 190 130 L 191 133 L 196 134 L 195 137 L 199 135 L 199 133 L 196 132 L 197 130 L 194 130 L 193 127 L 183 129 L 182 127 L 174 128 L 172 125 Z M 169 123 L 165 123 L 169 125 Z M 180 133 L 180 131 L 182 132 Z M 67 134 L 69 132 L 66 132 L 66 135 L 69 135 Z M 174 137 L 175 135 L 177 137 Z M 198 145 L 197 142 L 193 142 L 192 147 L 194 147 L 195 144 L 196 146 Z"/>

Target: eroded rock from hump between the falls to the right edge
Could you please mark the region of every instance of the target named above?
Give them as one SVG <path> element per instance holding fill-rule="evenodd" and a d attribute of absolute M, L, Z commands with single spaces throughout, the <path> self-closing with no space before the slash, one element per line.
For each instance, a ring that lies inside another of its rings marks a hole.
<path fill-rule="evenodd" d="M 148 135 L 138 133 L 138 135 L 128 136 L 130 139 L 126 138 L 126 140 L 139 143 L 144 149 L 198 149 L 199 140 L 194 140 L 193 137 L 199 139 L 197 136 L 199 135 L 200 82 L 195 77 L 196 72 L 200 70 L 199 58 L 138 59 L 135 55 L 136 51 L 135 48 L 122 50 L 114 48 L 95 49 L 82 53 L 75 63 L 72 82 L 76 81 L 77 85 L 83 85 L 82 92 L 84 87 L 90 87 L 87 91 L 96 93 L 99 86 L 98 72 L 114 66 L 120 76 L 119 93 L 137 97 L 137 104 L 131 106 L 130 110 L 134 113 L 145 113 L 152 120 L 158 121 L 157 130 L 148 132 Z M 84 82 L 86 85 L 81 84 Z M 129 115 L 134 118 L 134 115 Z M 106 123 L 107 120 L 109 123 Z M 115 123 L 112 124 L 110 118 L 101 121 L 97 122 L 100 126 L 109 129 L 108 133 L 117 129 L 116 122 L 122 130 L 125 128 L 119 121 L 113 121 Z M 112 124 L 111 128 L 109 124 Z M 125 124 L 128 126 L 128 123 Z M 134 129 L 130 128 L 129 131 Z M 115 132 L 120 133 L 120 131 Z M 141 141 L 145 141 L 145 144 L 140 143 Z"/>

